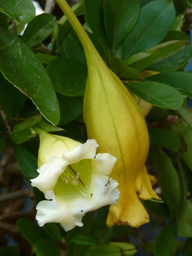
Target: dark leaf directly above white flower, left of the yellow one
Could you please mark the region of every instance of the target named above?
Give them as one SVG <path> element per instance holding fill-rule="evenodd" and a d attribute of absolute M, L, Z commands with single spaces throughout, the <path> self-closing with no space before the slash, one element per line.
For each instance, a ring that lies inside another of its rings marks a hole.
<path fill-rule="evenodd" d="M 83 99 L 81 97 L 66 97 L 58 94 L 61 111 L 59 125 L 67 124 L 75 120 L 83 111 Z"/>

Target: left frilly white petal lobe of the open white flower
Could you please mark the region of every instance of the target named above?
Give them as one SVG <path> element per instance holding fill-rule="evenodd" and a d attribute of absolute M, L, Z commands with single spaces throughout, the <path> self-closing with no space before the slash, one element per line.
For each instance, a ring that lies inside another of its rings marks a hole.
<path fill-rule="evenodd" d="M 31 180 L 31 185 L 44 192 L 46 199 L 52 199 L 53 188 L 66 167 L 66 162 L 61 158 L 50 157 L 49 163 L 45 163 L 38 169 L 39 175 Z"/>

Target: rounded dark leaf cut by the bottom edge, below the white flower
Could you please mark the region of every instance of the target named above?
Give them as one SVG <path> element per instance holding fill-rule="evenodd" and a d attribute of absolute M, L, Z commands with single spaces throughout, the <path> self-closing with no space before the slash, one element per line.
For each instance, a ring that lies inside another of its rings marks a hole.
<path fill-rule="evenodd" d="M 41 239 L 35 244 L 37 256 L 59 256 L 59 247 L 50 239 Z"/>

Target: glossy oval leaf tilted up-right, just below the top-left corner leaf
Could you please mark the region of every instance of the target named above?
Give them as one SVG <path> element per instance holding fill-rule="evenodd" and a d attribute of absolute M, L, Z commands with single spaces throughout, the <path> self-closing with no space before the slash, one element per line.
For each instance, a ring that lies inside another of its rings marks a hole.
<path fill-rule="evenodd" d="M 47 38 L 56 26 L 56 18 L 49 13 L 36 16 L 26 27 L 22 40 L 29 45 L 35 46 Z"/>

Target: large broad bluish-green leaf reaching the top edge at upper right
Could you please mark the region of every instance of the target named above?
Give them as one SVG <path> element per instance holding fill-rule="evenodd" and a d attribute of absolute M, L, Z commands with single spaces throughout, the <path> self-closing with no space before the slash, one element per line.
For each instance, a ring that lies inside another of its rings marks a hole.
<path fill-rule="evenodd" d="M 125 38 L 124 59 L 159 44 L 172 28 L 174 19 L 173 1 L 156 0 L 144 6 L 136 25 Z"/>

